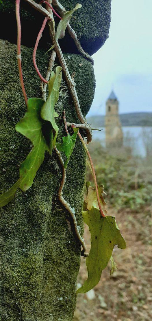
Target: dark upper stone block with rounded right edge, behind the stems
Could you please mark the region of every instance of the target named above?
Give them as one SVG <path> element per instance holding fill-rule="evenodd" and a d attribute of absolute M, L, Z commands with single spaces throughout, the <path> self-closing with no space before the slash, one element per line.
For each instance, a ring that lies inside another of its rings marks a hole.
<path fill-rule="evenodd" d="M 39 2 L 39 0 L 36 2 Z M 77 2 L 77 0 L 61 0 L 61 4 L 66 10 L 72 9 Z M 82 8 L 73 14 L 70 23 L 80 39 L 83 49 L 89 55 L 92 55 L 108 38 L 111 0 L 82 0 L 80 3 Z M 22 44 L 29 47 L 34 46 L 43 19 L 44 16 L 41 13 L 35 11 L 25 1 L 21 1 Z M 13 28 L 4 28 L 6 20 L 9 21 L 9 26 L 12 25 Z M 57 18 L 55 18 L 55 22 L 59 22 Z M 15 0 L 0 1 L 0 26 L 0 37 L 15 43 Z M 28 37 L 27 34 L 29 35 Z M 43 32 L 39 46 L 46 46 L 46 41 L 50 42 L 47 28 Z M 59 43 L 64 52 L 77 53 L 74 41 L 67 32 L 64 39 L 59 40 Z"/>

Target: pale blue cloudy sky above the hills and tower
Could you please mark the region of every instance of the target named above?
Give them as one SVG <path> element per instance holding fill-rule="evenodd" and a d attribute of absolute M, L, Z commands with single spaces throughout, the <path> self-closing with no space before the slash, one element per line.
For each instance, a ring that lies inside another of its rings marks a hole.
<path fill-rule="evenodd" d="M 152 111 L 152 0 L 112 0 L 109 38 L 93 59 L 96 92 L 88 116 L 105 114 L 112 89 L 120 113 Z"/>

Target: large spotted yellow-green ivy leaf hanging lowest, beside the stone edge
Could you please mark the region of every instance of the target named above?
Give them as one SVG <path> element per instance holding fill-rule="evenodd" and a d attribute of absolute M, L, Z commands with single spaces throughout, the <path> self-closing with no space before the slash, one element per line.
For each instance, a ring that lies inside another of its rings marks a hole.
<path fill-rule="evenodd" d="M 94 204 L 95 206 L 95 204 Z M 114 245 L 125 248 L 126 242 L 116 224 L 114 216 L 102 217 L 100 211 L 92 206 L 91 211 L 83 212 L 85 223 L 91 233 L 91 249 L 86 258 L 88 279 L 77 293 L 85 293 L 91 290 L 100 280 L 103 269 L 108 264 Z"/>

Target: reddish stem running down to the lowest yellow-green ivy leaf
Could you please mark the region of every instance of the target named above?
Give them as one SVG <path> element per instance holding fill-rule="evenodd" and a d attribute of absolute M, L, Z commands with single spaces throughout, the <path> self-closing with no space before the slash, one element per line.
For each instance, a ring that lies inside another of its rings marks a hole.
<path fill-rule="evenodd" d="M 72 127 L 74 127 L 74 125 L 72 125 Z M 81 136 L 81 134 L 78 132 L 78 136 L 82 142 L 82 145 L 83 147 L 85 148 L 86 152 L 87 152 L 87 155 L 88 155 L 88 158 L 89 158 L 89 162 L 90 162 L 90 166 L 91 166 L 91 169 L 92 169 L 92 174 L 93 174 L 93 179 L 94 179 L 94 183 L 95 183 L 95 190 L 96 190 L 96 196 L 97 196 L 97 202 L 98 202 L 98 206 L 99 206 L 99 210 L 100 210 L 100 213 L 101 213 L 101 216 L 106 216 L 101 208 L 101 204 L 100 204 L 100 198 L 99 198 L 99 193 L 98 193 L 98 188 L 97 188 L 97 179 L 96 179 L 96 173 L 95 173 L 95 169 L 94 169 L 94 166 L 93 166 L 93 162 L 92 162 L 92 159 L 91 159 L 91 156 L 90 156 L 90 153 L 88 151 L 88 148 Z"/>

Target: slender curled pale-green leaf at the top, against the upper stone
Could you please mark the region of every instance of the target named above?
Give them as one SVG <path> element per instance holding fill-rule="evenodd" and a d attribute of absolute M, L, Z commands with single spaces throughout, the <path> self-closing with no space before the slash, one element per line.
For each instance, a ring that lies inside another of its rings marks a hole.
<path fill-rule="evenodd" d="M 72 9 L 72 10 L 70 10 L 70 11 L 67 11 L 67 12 L 64 14 L 63 18 L 60 20 L 60 22 L 59 22 L 59 24 L 58 24 L 58 26 L 57 26 L 57 30 L 56 30 L 56 33 L 55 33 L 55 44 L 56 44 L 56 42 L 58 41 L 61 32 L 63 33 L 63 32 L 65 31 L 65 29 L 66 29 L 66 27 L 67 27 L 68 21 L 72 18 L 72 13 L 73 13 L 75 10 L 80 9 L 81 7 L 82 7 L 82 4 L 79 4 L 79 3 L 78 3 L 78 4 L 75 6 L 74 9 Z M 51 49 L 53 49 L 53 48 L 55 47 L 55 44 L 54 44 L 48 51 L 50 51 Z M 47 52 L 48 52 L 48 51 L 47 51 Z"/>

